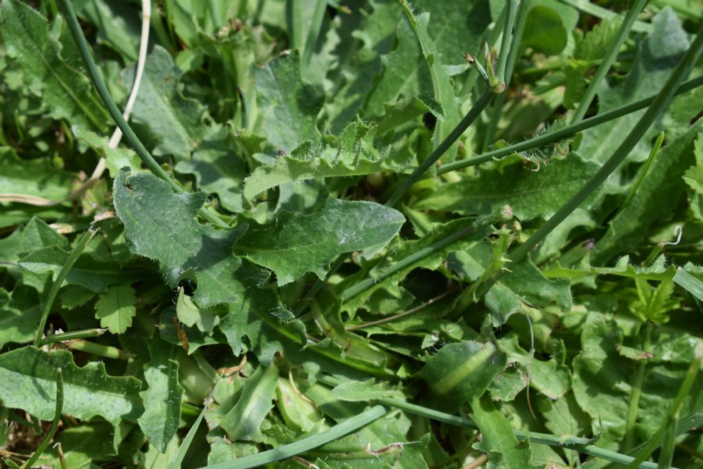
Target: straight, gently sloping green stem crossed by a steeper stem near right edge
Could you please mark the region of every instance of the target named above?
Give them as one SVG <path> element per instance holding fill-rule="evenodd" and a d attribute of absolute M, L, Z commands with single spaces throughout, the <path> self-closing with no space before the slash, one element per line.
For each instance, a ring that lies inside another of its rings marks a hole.
<path fill-rule="evenodd" d="M 683 94 L 687 91 L 691 91 L 692 89 L 695 89 L 701 85 L 703 85 L 703 75 L 683 82 L 676 89 L 674 96 Z M 600 124 L 605 124 L 605 122 L 610 122 L 611 120 L 617 119 L 618 117 L 622 117 L 624 115 L 628 115 L 638 110 L 644 109 L 648 105 L 652 104 L 654 102 L 654 99 L 657 98 L 657 96 L 659 96 L 659 94 L 647 96 L 647 98 L 640 99 L 639 101 L 635 101 L 634 103 L 622 105 L 619 108 L 615 108 L 605 113 L 589 117 L 586 120 L 582 120 L 578 124 L 572 124 L 568 127 L 564 127 L 563 129 L 548 132 L 547 134 L 534 137 L 534 139 L 529 139 L 524 142 L 515 143 L 513 145 L 506 146 L 505 148 L 500 148 L 498 150 L 489 151 L 488 153 L 478 155 L 474 158 L 467 158 L 466 160 L 459 160 L 447 163 L 446 165 L 441 165 L 441 167 L 437 168 L 437 174 L 444 174 L 446 172 L 456 171 L 457 169 L 477 166 L 486 161 L 493 160 L 494 158 L 500 158 L 505 155 L 512 155 L 512 153 L 517 153 L 523 150 L 529 150 L 530 148 L 538 148 L 540 146 L 545 146 L 549 143 L 553 143 L 555 141 L 560 141 L 568 136 L 578 134 L 582 130 L 591 129 L 592 127 L 596 127 Z"/>

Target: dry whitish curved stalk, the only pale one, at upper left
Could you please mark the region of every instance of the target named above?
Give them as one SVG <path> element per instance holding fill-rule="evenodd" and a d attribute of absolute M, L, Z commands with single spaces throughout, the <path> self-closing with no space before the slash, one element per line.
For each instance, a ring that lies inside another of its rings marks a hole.
<path fill-rule="evenodd" d="M 149 46 L 149 21 L 151 19 L 151 0 L 141 0 L 141 39 L 139 41 L 139 56 L 136 63 L 136 74 L 134 75 L 134 84 L 132 85 L 129 98 L 127 99 L 127 105 L 124 106 L 124 113 L 122 117 L 124 120 L 129 120 L 132 109 L 134 108 L 134 103 L 136 102 L 136 96 L 139 93 L 139 86 L 141 85 L 141 79 L 144 75 L 144 65 L 146 64 L 146 52 Z M 115 128 L 112 132 L 110 140 L 108 141 L 108 148 L 117 148 L 122 140 L 122 131 L 119 127 Z M 0 193 L 0 201 L 2 202 L 19 202 L 25 203 L 27 205 L 37 205 L 39 207 L 53 207 L 54 205 L 59 205 L 68 200 L 73 200 L 80 195 L 84 194 L 89 188 L 91 188 L 100 177 L 105 172 L 105 158 L 101 158 L 98 161 L 91 174 L 90 178 L 85 181 L 79 188 L 67 195 L 61 200 L 51 200 L 44 197 L 38 197 L 37 195 L 28 194 L 15 194 L 15 193 Z"/>

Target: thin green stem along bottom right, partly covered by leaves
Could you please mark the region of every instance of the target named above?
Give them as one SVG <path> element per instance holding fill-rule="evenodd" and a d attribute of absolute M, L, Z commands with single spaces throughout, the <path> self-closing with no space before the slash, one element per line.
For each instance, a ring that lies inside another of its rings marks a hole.
<path fill-rule="evenodd" d="M 328 386 L 337 386 L 342 383 L 341 380 L 334 378 L 330 375 L 321 375 L 320 381 Z M 392 399 L 389 397 L 377 400 L 378 402 L 380 402 L 380 404 L 393 407 L 394 409 L 401 409 L 408 413 L 413 413 L 416 416 L 430 418 L 439 422 L 449 423 L 449 425 L 456 425 L 457 427 L 469 428 L 471 430 L 479 430 L 479 426 L 476 425 L 473 420 L 469 420 L 468 418 L 453 416 L 451 415 L 451 413 L 444 413 L 436 411 L 434 409 L 427 409 L 427 407 L 418 406 L 416 404 L 410 404 L 409 402 L 400 401 L 398 399 Z M 515 437 L 520 440 L 525 440 L 529 438 L 529 441 L 531 443 L 539 443 L 546 444 L 548 446 L 555 446 L 558 448 L 573 449 L 574 451 L 579 451 L 583 454 L 588 454 L 590 456 L 602 458 L 607 461 L 613 461 L 614 463 L 628 464 L 635 459 L 632 456 L 626 456 L 625 454 L 616 453 L 615 451 L 608 451 L 607 449 L 599 448 L 598 446 L 590 444 L 592 440 L 587 438 L 565 438 L 563 436 L 550 435 L 548 433 L 523 432 L 522 430 L 515 430 Z M 654 463 L 640 463 L 635 467 L 641 469 L 656 469 L 657 465 Z"/>

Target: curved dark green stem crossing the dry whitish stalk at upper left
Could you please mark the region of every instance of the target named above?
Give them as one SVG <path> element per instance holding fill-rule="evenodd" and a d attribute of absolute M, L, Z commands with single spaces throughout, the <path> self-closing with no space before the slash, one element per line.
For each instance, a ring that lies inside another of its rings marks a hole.
<path fill-rule="evenodd" d="M 88 74 L 91 77 L 93 86 L 95 86 L 96 91 L 98 91 L 98 95 L 103 101 L 105 108 L 108 108 L 108 113 L 110 113 L 112 119 L 115 120 L 115 124 L 117 124 L 117 127 L 120 127 L 122 134 L 124 134 L 124 138 L 127 139 L 132 148 L 134 148 L 136 154 L 139 156 L 139 158 L 141 158 L 143 163 L 146 165 L 146 167 L 150 169 L 151 172 L 166 181 L 170 186 L 172 186 L 172 188 L 174 188 L 176 192 L 184 192 L 183 188 L 181 188 L 181 186 L 179 186 L 176 181 L 174 181 L 171 176 L 169 176 L 169 174 L 156 162 L 156 160 L 154 160 L 153 156 L 148 152 L 146 147 L 143 146 L 143 144 L 138 139 L 131 127 L 129 127 L 127 121 L 124 120 L 124 117 L 122 117 L 122 113 L 120 113 L 120 110 L 117 109 L 117 105 L 115 104 L 115 101 L 112 100 L 112 96 L 110 96 L 110 91 L 108 91 L 107 87 L 105 86 L 105 82 L 103 82 L 103 79 L 100 76 L 100 72 L 98 72 L 98 68 L 95 65 L 95 61 L 91 56 L 91 51 L 88 46 L 88 42 L 86 41 L 86 38 L 83 35 L 83 30 L 78 24 L 78 18 L 76 18 L 76 13 L 73 10 L 73 5 L 71 4 L 71 1 L 58 1 L 61 7 L 61 11 L 63 11 L 63 15 L 66 18 L 68 30 L 71 32 L 71 36 L 73 37 L 73 40 L 75 41 L 78 47 L 78 51 L 81 55 L 81 58 L 83 59 L 83 63 L 88 69 Z M 218 226 L 221 226 L 222 228 L 229 228 L 228 224 L 226 224 L 223 220 L 219 219 L 219 217 L 216 217 L 207 210 L 205 210 L 205 207 L 200 208 L 200 215 L 212 224 L 216 224 Z"/>

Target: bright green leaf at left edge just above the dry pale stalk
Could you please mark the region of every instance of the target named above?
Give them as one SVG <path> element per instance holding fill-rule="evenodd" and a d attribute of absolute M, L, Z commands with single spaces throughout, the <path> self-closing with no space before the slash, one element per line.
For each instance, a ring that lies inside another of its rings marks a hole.
<path fill-rule="evenodd" d="M 70 193 L 74 179 L 75 174 L 54 167 L 49 158 L 22 160 L 13 148 L 0 148 L 0 193 L 61 200 Z"/>

